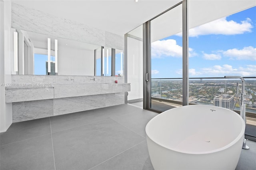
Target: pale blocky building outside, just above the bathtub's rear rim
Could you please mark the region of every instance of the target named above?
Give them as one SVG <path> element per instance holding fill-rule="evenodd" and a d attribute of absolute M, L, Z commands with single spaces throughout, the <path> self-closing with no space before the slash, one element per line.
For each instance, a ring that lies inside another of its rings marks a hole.
<path fill-rule="evenodd" d="M 228 94 L 221 94 L 214 97 L 214 106 L 232 109 L 235 104 L 234 96 Z"/>

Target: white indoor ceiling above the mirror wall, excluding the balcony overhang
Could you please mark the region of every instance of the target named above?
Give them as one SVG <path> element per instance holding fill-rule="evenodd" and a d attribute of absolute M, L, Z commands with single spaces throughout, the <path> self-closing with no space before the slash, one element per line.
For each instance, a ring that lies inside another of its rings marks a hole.
<path fill-rule="evenodd" d="M 34 8 L 124 35 L 181 0 L 12 0 L 16 4 Z"/>

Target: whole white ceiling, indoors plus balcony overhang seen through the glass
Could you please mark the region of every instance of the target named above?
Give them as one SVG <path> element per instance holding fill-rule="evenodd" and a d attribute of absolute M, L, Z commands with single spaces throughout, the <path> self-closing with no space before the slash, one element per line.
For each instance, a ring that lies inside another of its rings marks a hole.
<path fill-rule="evenodd" d="M 12 0 L 48 14 L 80 22 L 123 36 L 142 38 L 142 24 L 181 0 Z M 256 6 L 256 0 L 188 0 L 188 26 L 193 28 Z M 134 29 L 137 28 L 137 29 Z M 182 8 L 178 6 L 151 23 L 152 41 L 182 31 Z M 132 31 L 133 30 L 133 31 Z"/>

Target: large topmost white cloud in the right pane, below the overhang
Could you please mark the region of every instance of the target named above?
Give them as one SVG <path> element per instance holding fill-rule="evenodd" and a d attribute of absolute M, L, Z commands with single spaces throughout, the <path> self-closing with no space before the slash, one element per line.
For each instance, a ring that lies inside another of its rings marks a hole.
<path fill-rule="evenodd" d="M 206 24 L 200 25 L 189 30 L 190 37 L 196 37 L 200 35 L 209 35 L 209 34 L 222 34 L 222 35 L 236 35 L 244 34 L 245 32 L 252 32 L 252 20 L 246 18 L 246 20 L 241 21 L 240 23 L 233 20 L 227 21 L 226 17 L 221 18 Z M 182 34 L 176 34 L 182 36 Z"/>

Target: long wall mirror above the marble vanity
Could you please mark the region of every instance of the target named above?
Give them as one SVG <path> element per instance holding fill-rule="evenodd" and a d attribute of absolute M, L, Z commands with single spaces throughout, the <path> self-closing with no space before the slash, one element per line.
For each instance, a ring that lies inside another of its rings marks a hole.
<path fill-rule="evenodd" d="M 14 28 L 12 33 L 12 74 L 123 75 L 122 50 Z"/>

